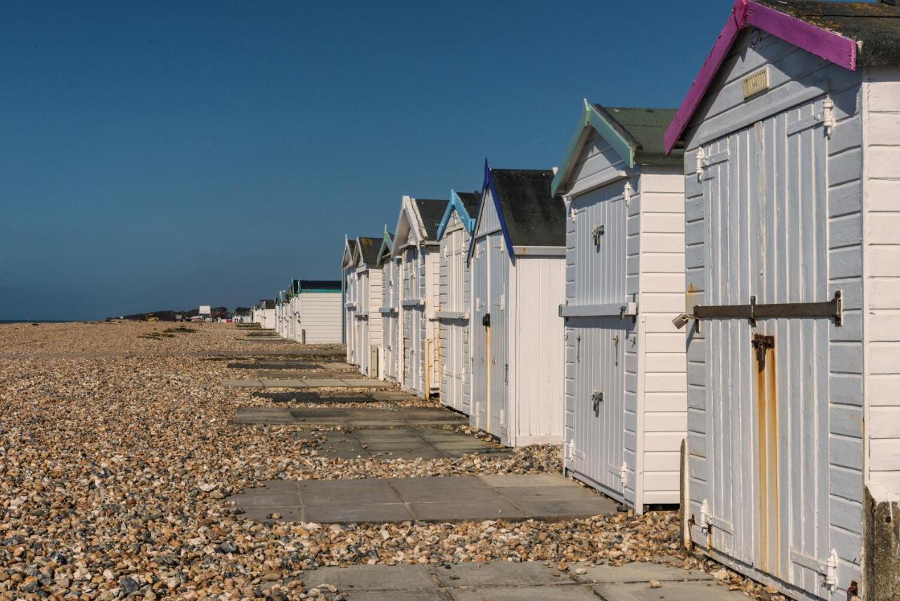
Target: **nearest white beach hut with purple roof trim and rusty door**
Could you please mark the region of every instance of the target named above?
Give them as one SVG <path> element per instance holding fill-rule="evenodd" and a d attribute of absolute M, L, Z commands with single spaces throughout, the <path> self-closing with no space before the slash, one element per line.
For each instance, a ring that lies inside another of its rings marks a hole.
<path fill-rule="evenodd" d="M 900 8 L 742 0 L 685 150 L 686 541 L 795 598 L 900 598 Z"/>

